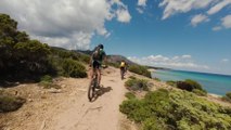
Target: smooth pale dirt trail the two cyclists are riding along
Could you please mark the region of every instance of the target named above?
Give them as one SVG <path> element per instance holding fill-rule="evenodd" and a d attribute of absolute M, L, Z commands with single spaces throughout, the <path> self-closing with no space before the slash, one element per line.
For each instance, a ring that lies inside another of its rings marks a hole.
<path fill-rule="evenodd" d="M 78 99 L 72 96 L 70 100 L 63 103 L 62 105 L 65 106 L 65 109 L 50 118 L 49 120 L 51 121 L 43 129 L 119 130 L 119 104 L 126 92 L 124 81 L 119 77 L 119 70 L 112 68 L 105 70 L 101 83 L 103 88 L 98 91 L 99 96 L 95 101 L 88 101 L 88 86 L 85 83 L 85 88 L 81 90 L 86 93 Z"/>

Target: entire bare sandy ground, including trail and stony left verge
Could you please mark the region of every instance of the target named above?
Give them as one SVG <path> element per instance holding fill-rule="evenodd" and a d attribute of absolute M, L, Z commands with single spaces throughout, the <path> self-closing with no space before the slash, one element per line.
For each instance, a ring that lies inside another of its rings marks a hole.
<path fill-rule="evenodd" d="M 27 103 L 16 112 L 0 114 L 0 129 L 133 130 L 132 122 L 119 113 L 119 104 L 127 91 L 124 81 L 119 69 L 104 69 L 103 87 L 93 102 L 87 99 L 89 78 L 56 79 L 61 90 L 47 90 L 35 83 L 8 88 L 5 91 L 26 98 Z"/>

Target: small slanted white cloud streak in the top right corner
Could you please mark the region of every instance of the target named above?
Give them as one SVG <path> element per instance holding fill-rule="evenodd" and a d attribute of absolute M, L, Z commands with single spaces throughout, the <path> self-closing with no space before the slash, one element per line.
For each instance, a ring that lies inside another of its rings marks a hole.
<path fill-rule="evenodd" d="M 223 0 L 219 3 L 217 3 L 216 5 L 214 5 L 210 10 L 208 10 L 207 14 L 213 15 L 229 4 L 231 4 L 231 0 Z"/>

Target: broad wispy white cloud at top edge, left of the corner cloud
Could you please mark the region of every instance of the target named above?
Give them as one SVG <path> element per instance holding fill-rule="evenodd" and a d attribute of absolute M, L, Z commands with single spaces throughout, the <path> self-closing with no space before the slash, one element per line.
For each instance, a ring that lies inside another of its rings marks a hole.
<path fill-rule="evenodd" d="M 177 13 L 187 13 L 191 10 L 204 9 L 214 1 L 215 0 L 164 0 L 159 3 L 159 6 L 165 8 L 162 20 L 166 20 Z"/>

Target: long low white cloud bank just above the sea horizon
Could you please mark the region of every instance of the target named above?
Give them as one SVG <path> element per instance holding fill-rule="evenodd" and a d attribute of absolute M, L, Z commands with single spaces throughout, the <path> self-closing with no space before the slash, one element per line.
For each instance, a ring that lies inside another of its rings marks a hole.
<path fill-rule="evenodd" d="M 176 69 L 209 69 L 207 65 L 196 64 L 191 55 L 181 55 L 181 56 L 172 56 L 167 57 L 163 55 L 150 55 L 146 57 L 128 57 L 129 60 L 151 66 L 159 66 L 159 67 L 169 67 Z"/>

